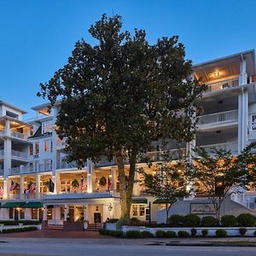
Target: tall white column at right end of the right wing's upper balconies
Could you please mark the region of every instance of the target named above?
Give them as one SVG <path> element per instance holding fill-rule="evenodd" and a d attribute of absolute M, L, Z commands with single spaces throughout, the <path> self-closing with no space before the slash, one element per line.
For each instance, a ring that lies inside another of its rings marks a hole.
<path fill-rule="evenodd" d="M 241 60 L 241 73 L 239 85 L 247 84 L 246 60 Z M 238 153 L 247 146 L 247 124 L 248 124 L 248 92 L 241 90 L 238 96 Z"/>

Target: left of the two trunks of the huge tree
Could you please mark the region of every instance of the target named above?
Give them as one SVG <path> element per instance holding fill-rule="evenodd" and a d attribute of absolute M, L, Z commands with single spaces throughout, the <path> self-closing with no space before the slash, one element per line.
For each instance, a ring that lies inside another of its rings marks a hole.
<path fill-rule="evenodd" d="M 126 206 L 126 182 L 125 182 L 125 165 L 122 150 L 116 153 L 117 166 L 119 169 L 119 189 L 121 201 L 121 218 L 129 218 Z"/>

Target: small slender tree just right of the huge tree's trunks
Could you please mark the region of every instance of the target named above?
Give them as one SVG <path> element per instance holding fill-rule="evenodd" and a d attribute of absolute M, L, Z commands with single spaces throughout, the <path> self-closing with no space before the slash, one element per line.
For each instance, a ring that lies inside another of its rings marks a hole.
<path fill-rule="evenodd" d="M 163 163 L 154 166 L 154 174 L 144 174 L 144 191 L 154 196 L 160 204 L 166 205 L 166 223 L 168 214 L 178 198 L 190 194 L 188 188 L 189 172 L 183 161 L 176 163 Z"/>

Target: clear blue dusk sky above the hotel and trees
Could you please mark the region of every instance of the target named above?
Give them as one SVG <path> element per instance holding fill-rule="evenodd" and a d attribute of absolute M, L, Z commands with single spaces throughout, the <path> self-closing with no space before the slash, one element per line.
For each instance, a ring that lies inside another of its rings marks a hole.
<path fill-rule="evenodd" d="M 256 1 L 0 0 L 0 100 L 30 113 L 36 96 L 67 62 L 91 24 L 119 14 L 124 29 L 143 28 L 148 41 L 178 35 L 193 63 L 256 48 Z"/>

